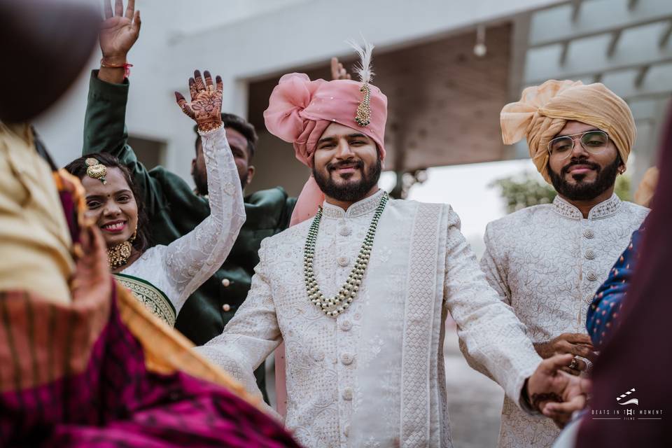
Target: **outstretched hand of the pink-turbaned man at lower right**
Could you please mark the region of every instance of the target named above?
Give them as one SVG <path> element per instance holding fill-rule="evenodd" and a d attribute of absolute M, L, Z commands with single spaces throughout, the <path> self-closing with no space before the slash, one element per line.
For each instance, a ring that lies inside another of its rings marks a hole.
<path fill-rule="evenodd" d="M 531 405 L 563 427 L 573 412 L 586 406 L 591 388 L 589 379 L 562 371 L 572 360 L 571 354 L 555 355 L 543 360 L 527 381 Z"/>

